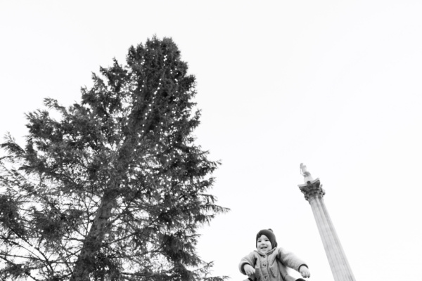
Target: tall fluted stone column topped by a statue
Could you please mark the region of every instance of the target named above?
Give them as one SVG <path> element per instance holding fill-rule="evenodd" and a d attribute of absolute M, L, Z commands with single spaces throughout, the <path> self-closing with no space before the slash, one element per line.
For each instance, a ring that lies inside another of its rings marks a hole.
<path fill-rule="evenodd" d="M 299 188 L 311 205 L 334 280 L 355 281 L 352 269 L 349 266 L 343 247 L 341 247 L 340 240 L 337 233 L 335 233 L 333 222 L 324 204 L 325 190 L 322 189 L 319 178 L 314 180 L 304 164 L 300 164 L 300 170 L 305 177 L 305 184 L 299 185 Z"/>

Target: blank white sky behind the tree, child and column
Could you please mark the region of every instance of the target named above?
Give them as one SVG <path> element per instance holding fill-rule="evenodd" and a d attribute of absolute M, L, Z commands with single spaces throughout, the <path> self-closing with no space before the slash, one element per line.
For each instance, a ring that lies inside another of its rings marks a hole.
<path fill-rule="evenodd" d="M 0 1 L 0 134 L 26 135 L 46 97 L 79 101 L 91 72 L 131 45 L 172 37 L 198 82 L 198 144 L 221 159 L 229 207 L 200 256 L 243 280 L 255 234 L 333 280 L 304 162 L 356 280 L 416 280 L 422 264 L 421 1 Z"/>

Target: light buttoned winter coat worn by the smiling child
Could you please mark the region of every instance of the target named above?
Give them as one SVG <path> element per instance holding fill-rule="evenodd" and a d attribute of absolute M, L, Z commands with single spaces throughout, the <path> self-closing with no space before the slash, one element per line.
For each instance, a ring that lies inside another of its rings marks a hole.
<path fill-rule="evenodd" d="M 246 274 L 243 269 L 245 264 L 255 268 L 257 281 L 283 281 L 282 273 L 283 275 L 287 274 L 286 266 L 297 271 L 299 271 L 300 266 L 306 266 L 304 261 L 283 248 L 271 249 L 266 254 L 257 250 L 252 251 L 248 256 L 243 257 L 239 263 L 239 270 L 243 274 Z"/>

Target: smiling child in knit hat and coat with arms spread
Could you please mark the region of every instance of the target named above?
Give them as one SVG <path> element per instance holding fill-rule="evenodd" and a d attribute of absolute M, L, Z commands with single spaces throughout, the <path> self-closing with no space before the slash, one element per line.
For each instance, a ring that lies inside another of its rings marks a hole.
<path fill-rule="evenodd" d="M 241 259 L 239 270 L 248 275 L 250 281 L 294 281 L 295 278 L 287 274 L 287 268 L 298 270 L 302 277 L 311 274 L 304 261 L 294 254 L 277 247 L 276 235 L 271 229 L 264 229 L 257 233 L 257 250 Z M 296 281 L 305 281 L 299 278 Z"/>

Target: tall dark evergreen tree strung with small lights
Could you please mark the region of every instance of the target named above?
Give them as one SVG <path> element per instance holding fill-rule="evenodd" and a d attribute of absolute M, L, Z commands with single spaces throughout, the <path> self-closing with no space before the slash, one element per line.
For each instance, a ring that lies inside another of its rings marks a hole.
<path fill-rule="evenodd" d="M 25 148 L 6 136 L 3 280 L 225 279 L 196 254 L 198 228 L 227 209 L 207 193 L 219 163 L 194 144 L 187 70 L 172 39 L 148 39 L 93 74 L 81 103 L 27 114 Z"/>

